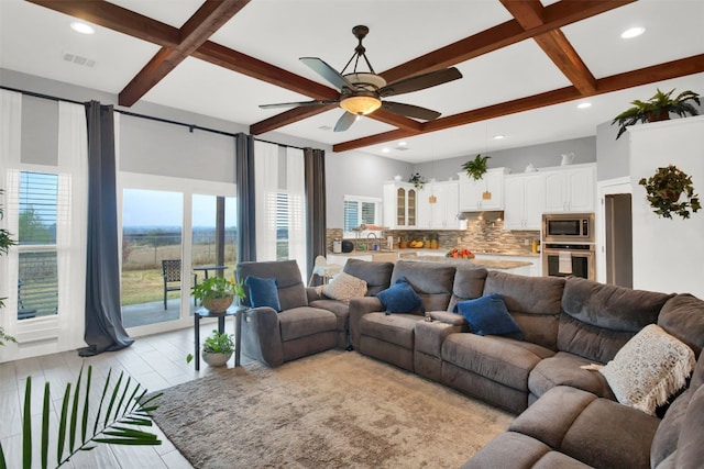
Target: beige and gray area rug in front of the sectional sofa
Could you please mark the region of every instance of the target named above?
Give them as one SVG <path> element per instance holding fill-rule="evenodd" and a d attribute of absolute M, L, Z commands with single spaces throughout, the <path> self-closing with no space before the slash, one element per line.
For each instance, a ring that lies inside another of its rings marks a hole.
<path fill-rule="evenodd" d="M 458 468 L 513 416 L 329 350 L 166 389 L 154 418 L 195 468 Z"/>

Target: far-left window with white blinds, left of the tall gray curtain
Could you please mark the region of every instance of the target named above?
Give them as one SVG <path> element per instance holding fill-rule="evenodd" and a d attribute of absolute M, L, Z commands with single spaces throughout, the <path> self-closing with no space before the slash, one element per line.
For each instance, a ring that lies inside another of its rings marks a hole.
<path fill-rule="evenodd" d="M 58 176 L 20 172 L 18 320 L 56 314 Z"/>

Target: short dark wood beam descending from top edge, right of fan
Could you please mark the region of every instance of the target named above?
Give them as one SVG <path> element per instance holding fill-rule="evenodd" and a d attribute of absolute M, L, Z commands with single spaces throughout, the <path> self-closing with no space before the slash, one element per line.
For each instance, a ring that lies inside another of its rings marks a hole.
<path fill-rule="evenodd" d="M 524 30 L 534 30 L 544 24 L 544 8 L 539 0 L 501 2 Z M 596 91 L 596 78 L 561 30 L 538 34 L 534 41 L 581 93 L 588 96 Z"/>

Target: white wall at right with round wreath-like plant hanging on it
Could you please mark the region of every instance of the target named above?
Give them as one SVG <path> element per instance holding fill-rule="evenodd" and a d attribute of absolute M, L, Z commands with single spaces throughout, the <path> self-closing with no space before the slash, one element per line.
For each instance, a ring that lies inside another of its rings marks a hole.
<path fill-rule="evenodd" d="M 695 193 L 704 197 L 704 116 L 632 126 L 624 137 L 630 139 L 634 288 L 704 299 L 704 210 L 689 220 L 658 217 L 638 185 L 672 164 L 692 177 Z"/>

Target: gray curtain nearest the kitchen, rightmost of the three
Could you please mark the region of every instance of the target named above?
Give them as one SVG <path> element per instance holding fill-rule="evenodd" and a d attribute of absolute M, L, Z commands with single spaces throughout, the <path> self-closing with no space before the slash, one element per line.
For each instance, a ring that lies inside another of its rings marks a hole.
<path fill-rule="evenodd" d="M 304 148 L 306 172 L 306 226 L 308 227 L 308 277 L 312 272 L 316 256 L 327 254 L 326 241 L 326 153 L 322 149 Z M 318 277 L 316 277 L 317 280 Z"/>

